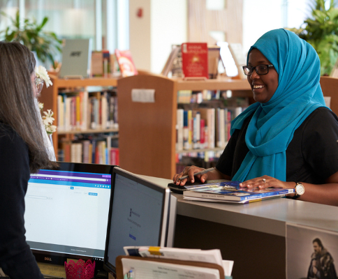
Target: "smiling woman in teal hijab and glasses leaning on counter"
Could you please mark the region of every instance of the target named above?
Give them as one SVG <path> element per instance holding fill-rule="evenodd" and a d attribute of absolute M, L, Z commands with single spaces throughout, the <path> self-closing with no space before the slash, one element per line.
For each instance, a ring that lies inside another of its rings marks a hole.
<path fill-rule="evenodd" d="M 216 169 L 193 176 L 202 169 L 186 167 L 173 180 L 189 175 L 191 182 L 231 179 L 248 188 L 297 185 L 294 198 L 338 205 L 338 119 L 325 107 L 314 48 L 291 31 L 272 30 L 250 48 L 243 69 L 256 103 L 232 121 Z"/>

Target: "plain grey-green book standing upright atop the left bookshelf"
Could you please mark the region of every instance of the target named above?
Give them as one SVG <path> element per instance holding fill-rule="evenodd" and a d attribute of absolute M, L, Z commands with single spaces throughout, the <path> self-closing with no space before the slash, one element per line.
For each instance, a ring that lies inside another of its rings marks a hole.
<path fill-rule="evenodd" d="M 83 78 L 90 75 L 91 38 L 66 39 L 59 77 Z"/>

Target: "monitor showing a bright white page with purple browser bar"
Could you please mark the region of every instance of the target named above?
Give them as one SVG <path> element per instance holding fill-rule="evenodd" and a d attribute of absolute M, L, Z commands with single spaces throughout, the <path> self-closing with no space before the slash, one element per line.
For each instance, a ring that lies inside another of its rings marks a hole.
<path fill-rule="evenodd" d="M 31 174 L 26 240 L 38 262 L 91 259 L 103 270 L 112 165 L 58 162 Z"/>

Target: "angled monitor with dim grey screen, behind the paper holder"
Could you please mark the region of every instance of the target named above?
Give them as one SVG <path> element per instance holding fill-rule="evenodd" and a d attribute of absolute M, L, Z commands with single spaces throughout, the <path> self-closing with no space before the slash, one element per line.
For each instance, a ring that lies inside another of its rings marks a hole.
<path fill-rule="evenodd" d="M 124 169 L 112 172 L 112 191 L 104 268 L 116 276 L 115 259 L 124 246 L 172 247 L 176 198 L 159 186 Z"/>

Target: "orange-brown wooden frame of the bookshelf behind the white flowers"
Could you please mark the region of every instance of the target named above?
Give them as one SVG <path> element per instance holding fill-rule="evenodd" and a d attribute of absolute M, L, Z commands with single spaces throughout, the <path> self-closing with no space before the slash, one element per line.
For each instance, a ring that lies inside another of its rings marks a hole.
<path fill-rule="evenodd" d="M 91 77 L 86 79 L 60 79 L 55 75 L 50 74 L 50 80 L 52 81 L 52 86 L 48 88 L 43 87 L 41 96 L 38 97 L 38 101 L 44 104 L 43 111 L 52 110 L 54 115 L 57 115 L 57 96 L 61 90 L 69 91 L 78 91 L 79 89 L 86 88 L 87 86 L 103 86 L 103 87 L 116 87 L 117 86 L 117 77 Z M 58 125 L 57 117 L 54 117 L 54 125 Z M 71 139 L 75 134 L 85 134 L 85 133 L 108 133 L 108 132 L 117 132 L 118 129 L 104 129 L 104 130 L 71 130 L 71 131 L 62 131 L 55 132 L 52 135 L 52 140 L 54 144 L 55 154 L 57 156 L 59 136 L 68 137 Z"/>

